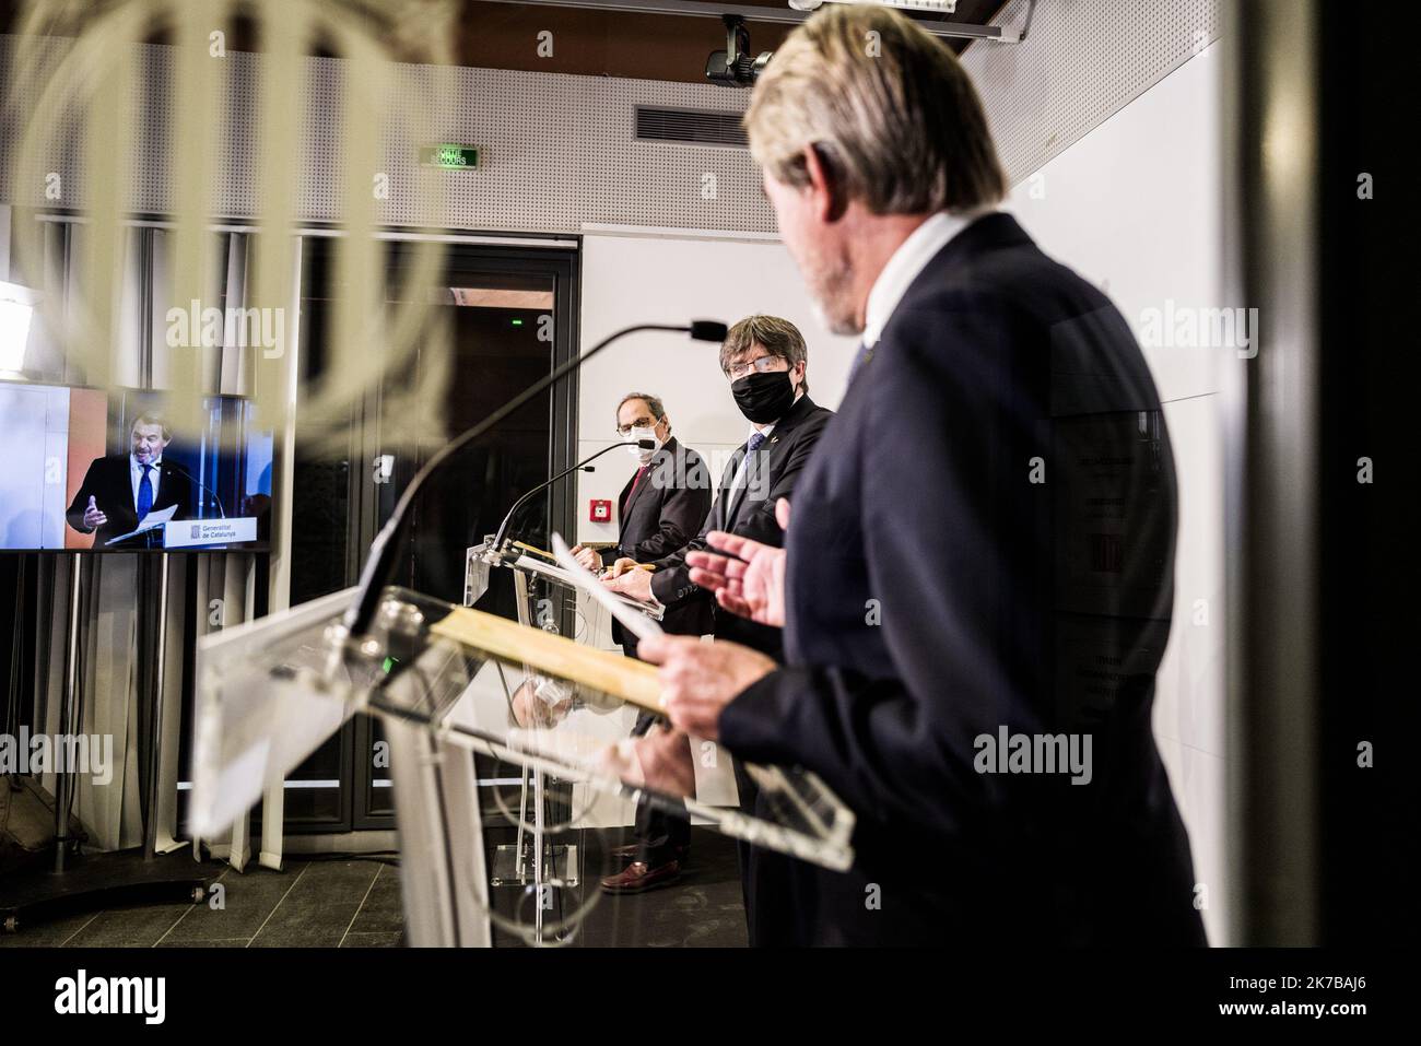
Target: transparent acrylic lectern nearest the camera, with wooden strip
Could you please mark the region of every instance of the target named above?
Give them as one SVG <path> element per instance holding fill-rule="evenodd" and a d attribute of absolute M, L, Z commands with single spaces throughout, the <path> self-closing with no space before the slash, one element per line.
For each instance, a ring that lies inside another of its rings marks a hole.
<path fill-rule="evenodd" d="M 389 745 L 411 945 L 568 944 L 601 894 L 597 874 L 544 860 L 625 824 L 645 797 L 737 840 L 843 870 L 854 819 L 800 769 L 743 766 L 759 797 L 735 804 L 730 753 L 655 728 L 651 665 L 553 631 L 385 590 L 369 635 L 350 640 L 354 590 L 202 641 L 192 824 L 216 837 L 355 713 Z M 536 621 L 536 618 L 534 618 Z M 556 794 L 529 800 L 530 783 Z M 533 874 L 500 880 L 486 854 L 537 833 Z"/>

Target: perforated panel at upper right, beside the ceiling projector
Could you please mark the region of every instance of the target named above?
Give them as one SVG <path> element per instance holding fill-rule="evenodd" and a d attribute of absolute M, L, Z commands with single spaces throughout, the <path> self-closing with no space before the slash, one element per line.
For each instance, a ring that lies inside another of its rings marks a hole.
<path fill-rule="evenodd" d="M 993 20 L 1020 26 L 1027 0 Z M 1019 182 L 1219 36 L 1218 0 L 1040 0 L 1020 44 L 962 57 Z"/>

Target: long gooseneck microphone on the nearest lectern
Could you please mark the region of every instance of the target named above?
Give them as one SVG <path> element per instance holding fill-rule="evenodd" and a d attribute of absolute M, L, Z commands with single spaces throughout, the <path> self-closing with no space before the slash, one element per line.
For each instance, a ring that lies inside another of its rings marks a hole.
<path fill-rule="evenodd" d="M 409 517 L 409 506 L 414 503 L 415 496 L 425 486 L 425 483 L 429 482 L 429 478 L 443 469 L 455 453 L 489 432 L 489 429 L 531 401 L 536 395 L 546 392 L 570 374 L 578 371 L 584 362 L 591 360 L 614 341 L 639 331 L 689 334 L 695 341 L 725 341 L 725 335 L 729 328 L 716 320 L 695 320 L 684 325 L 644 323 L 632 327 L 622 327 L 620 331 L 608 334 L 581 355 L 567 360 L 553 368 L 553 371 L 534 381 L 477 425 L 465 429 L 439 448 L 438 453 L 425 462 L 423 468 L 415 473 L 412 480 L 409 480 L 409 486 L 405 487 L 405 492 L 395 503 L 395 512 L 391 514 L 389 522 L 381 527 L 381 532 L 375 536 L 375 541 L 369 547 L 369 559 L 365 560 L 365 570 L 361 571 L 360 588 L 355 593 L 355 603 L 348 611 L 345 611 L 345 628 L 348 638 L 365 635 L 369 631 L 369 624 L 375 618 L 375 608 L 379 605 L 379 594 L 388 583 L 395 566 L 395 556 L 399 549 L 398 539 L 404 533 L 405 520 Z"/>

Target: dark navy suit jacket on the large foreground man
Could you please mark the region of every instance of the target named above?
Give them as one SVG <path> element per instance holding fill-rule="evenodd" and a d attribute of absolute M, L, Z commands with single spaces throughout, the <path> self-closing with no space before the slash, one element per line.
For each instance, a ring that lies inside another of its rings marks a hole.
<path fill-rule="evenodd" d="M 735 755 L 803 765 L 858 814 L 848 874 L 791 864 L 789 942 L 1204 942 L 1150 725 L 1174 540 L 1124 318 L 1010 216 L 975 222 L 796 490 L 790 667 L 720 716 Z M 1088 735 L 1090 782 L 982 772 L 1003 729 Z"/>

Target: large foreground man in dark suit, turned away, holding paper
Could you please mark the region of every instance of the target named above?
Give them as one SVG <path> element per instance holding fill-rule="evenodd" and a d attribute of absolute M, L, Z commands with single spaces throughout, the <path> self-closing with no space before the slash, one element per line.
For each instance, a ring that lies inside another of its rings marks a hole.
<path fill-rule="evenodd" d="M 784 621 L 787 665 L 642 654 L 678 728 L 858 816 L 847 874 L 791 866 L 777 942 L 1202 944 L 1150 722 L 1174 465 L 1128 325 L 992 210 L 976 94 L 897 13 L 816 14 L 746 122 L 786 244 L 864 345 L 784 550 L 712 536 L 733 559 L 692 560 L 722 607 Z"/>

